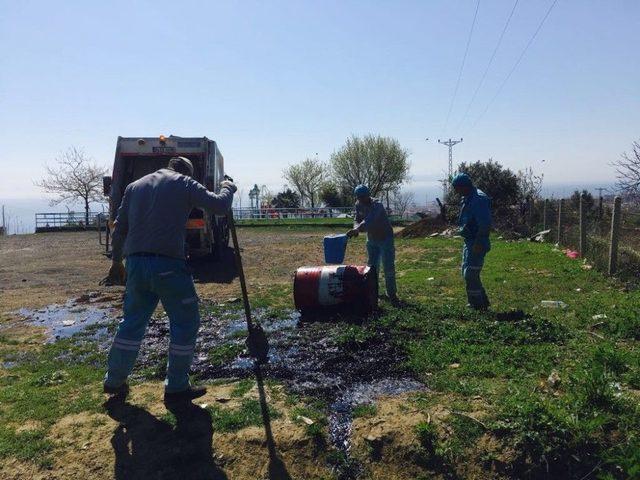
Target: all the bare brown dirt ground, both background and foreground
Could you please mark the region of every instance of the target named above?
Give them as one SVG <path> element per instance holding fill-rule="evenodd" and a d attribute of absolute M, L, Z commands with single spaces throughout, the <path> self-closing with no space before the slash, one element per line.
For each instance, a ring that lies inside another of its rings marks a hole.
<path fill-rule="evenodd" d="M 322 237 L 330 232 L 327 229 L 286 232 L 282 229 L 239 229 L 250 294 L 259 296 L 274 286 L 290 286 L 296 268 L 322 264 Z M 20 320 L 16 314 L 19 309 L 64 303 L 90 292 L 97 292 L 97 296 L 117 307 L 123 288 L 99 285 L 110 260 L 103 255 L 103 247 L 97 240 L 97 235 L 91 232 L 0 237 L 0 327 L 3 334 L 18 339 L 24 348 L 38 349 L 44 338 L 42 332 Z M 364 262 L 364 250 L 361 243 L 350 246 L 347 260 Z M 193 267 L 196 288 L 202 299 L 220 303 L 240 296 L 231 250 L 226 252 L 222 263 L 207 261 Z M 2 370 L 0 368 L 0 373 Z M 231 385 L 210 386 L 207 396 L 200 399 L 198 405 L 216 404 L 219 398 L 228 397 Z M 202 416 L 205 421 L 194 422 L 191 412 L 191 420 L 187 422 L 189 428 L 201 431 L 187 432 L 191 446 L 188 452 L 182 452 L 189 458 L 197 457 L 194 468 L 199 473 L 194 471 L 192 478 L 334 478 L 326 461 L 326 450 L 318 449 L 306 434 L 305 426 L 292 420 L 295 419 L 291 413 L 295 405 L 286 404 L 274 388 L 281 387 L 269 385 L 267 400 L 282 413 L 272 422 L 271 428 L 284 473 L 278 473 L 277 465 L 269 462 L 262 426 L 244 428 L 236 433 L 212 432 L 210 420 L 196 406 L 200 413 L 196 412 L 195 417 Z M 247 395 L 256 396 L 255 388 Z M 127 403 L 119 409 L 63 417 L 49 434 L 49 439 L 56 445 L 51 467 L 43 470 L 9 457 L 0 462 L 0 478 L 160 478 L 158 471 L 162 478 L 175 478 L 169 470 L 154 470 L 157 465 L 167 463 L 167 458 L 181 455 L 176 451 L 181 447 L 176 444 L 179 444 L 178 437 L 184 434 L 179 419 L 176 428 L 163 420 L 166 408 L 161 398 L 160 383 L 145 383 L 136 385 Z M 225 403 L 224 407 L 231 408 L 234 402 L 237 400 Z M 392 422 L 387 420 L 387 424 L 392 425 Z M 406 426 L 404 422 L 402 428 Z M 29 428 L 38 428 L 38 425 L 25 424 L 21 431 Z M 367 436 L 369 430 L 366 426 L 359 427 L 354 441 L 363 445 L 360 437 Z M 375 478 L 405 478 L 399 473 Z"/>

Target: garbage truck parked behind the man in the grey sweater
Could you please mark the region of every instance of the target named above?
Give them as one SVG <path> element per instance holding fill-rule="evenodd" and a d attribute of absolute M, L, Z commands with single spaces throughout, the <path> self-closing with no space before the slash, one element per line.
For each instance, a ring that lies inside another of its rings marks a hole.
<path fill-rule="evenodd" d="M 215 141 L 207 137 L 118 137 L 111 176 L 103 177 L 103 190 L 109 199 L 106 249 L 110 231 L 118 214 L 124 190 L 131 182 L 165 168 L 171 157 L 186 157 L 193 163 L 195 180 L 212 192 L 219 192 L 224 180 L 224 159 Z M 185 256 L 212 255 L 219 258 L 229 245 L 229 226 L 225 216 L 210 215 L 194 208 L 187 221 Z"/>

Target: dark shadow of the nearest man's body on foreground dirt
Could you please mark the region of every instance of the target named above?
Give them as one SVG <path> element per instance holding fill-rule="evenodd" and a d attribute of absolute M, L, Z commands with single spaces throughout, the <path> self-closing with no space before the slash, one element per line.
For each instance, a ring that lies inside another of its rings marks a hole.
<path fill-rule="evenodd" d="M 111 439 L 116 480 L 227 479 L 214 462 L 213 427 L 207 410 L 192 403 L 168 406 L 174 426 L 171 419 L 159 420 L 123 399 L 112 398 L 104 405 L 119 423 Z"/>

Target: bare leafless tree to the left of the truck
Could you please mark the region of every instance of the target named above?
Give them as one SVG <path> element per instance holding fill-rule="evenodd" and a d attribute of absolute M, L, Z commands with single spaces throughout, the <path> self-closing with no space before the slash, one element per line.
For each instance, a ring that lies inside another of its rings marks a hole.
<path fill-rule="evenodd" d="M 106 169 L 93 163 L 84 150 L 76 147 L 60 154 L 56 163 L 55 167 L 47 166 L 47 176 L 35 184 L 58 196 L 51 200 L 52 206 L 82 201 L 86 226 L 89 224 L 89 204 L 104 201 L 102 177 Z"/>

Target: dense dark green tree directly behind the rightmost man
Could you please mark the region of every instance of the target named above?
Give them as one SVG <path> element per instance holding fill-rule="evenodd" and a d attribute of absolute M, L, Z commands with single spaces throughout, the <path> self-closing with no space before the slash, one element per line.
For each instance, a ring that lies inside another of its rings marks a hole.
<path fill-rule="evenodd" d="M 461 163 L 458 171 L 468 174 L 476 187 L 491 197 L 494 208 L 507 208 L 522 198 L 518 176 L 491 158 L 486 162 Z M 453 188 L 447 191 L 447 203 L 457 204 L 460 196 Z"/>

